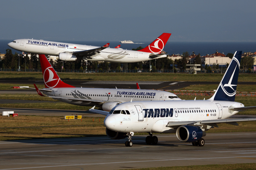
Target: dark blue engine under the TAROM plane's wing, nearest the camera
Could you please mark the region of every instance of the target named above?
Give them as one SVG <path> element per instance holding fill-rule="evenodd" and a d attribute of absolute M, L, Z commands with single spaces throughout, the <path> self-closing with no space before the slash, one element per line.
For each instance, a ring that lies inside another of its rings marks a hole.
<path fill-rule="evenodd" d="M 206 132 L 200 127 L 184 125 L 177 128 L 176 136 L 180 142 L 195 142 L 206 136 Z"/>

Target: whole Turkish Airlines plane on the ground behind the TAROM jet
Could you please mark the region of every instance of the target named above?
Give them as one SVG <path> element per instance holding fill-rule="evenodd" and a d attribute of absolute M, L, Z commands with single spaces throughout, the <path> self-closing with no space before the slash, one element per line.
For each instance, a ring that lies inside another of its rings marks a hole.
<path fill-rule="evenodd" d="M 39 55 L 45 88 L 38 89 L 40 96 L 47 95 L 61 102 L 81 106 L 98 106 L 104 111 L 111 111 L 116 105 L 133 101 L 181 100 L 167 91 L 117 89 L 117 88 L 76 88 L 61 81 L 45 55 Z M 138 87 L 138 86 L 137 86 Z M 41 91 L 45 94 L 42 94 Z"/>

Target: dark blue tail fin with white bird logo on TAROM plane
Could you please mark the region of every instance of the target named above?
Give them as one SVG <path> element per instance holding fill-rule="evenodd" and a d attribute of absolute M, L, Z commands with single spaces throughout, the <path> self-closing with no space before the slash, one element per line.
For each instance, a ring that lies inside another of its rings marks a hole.
<path fill-rule="evenodd" d="M 236 51 L 215 94 L 209 100 L 235 101 L 242 51 Z"/>

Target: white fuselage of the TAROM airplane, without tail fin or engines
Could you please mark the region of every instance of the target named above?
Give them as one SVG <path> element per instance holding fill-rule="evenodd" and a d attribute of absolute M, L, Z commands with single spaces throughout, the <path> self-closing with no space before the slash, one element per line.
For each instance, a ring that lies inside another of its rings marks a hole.
<path fill-rule="evenodd" d="M 227 119 L 238 113 L 232 107 L 244 107 L 238 102 L 210 100 L 126 102 L 117 105 L 105 118 L 105 126 L 116 132 L 175 133 L 169 122 Z M 114 113 L 113 113 L 114 110 Z M 115 111 L 130 114 L 116 114 Z"/>

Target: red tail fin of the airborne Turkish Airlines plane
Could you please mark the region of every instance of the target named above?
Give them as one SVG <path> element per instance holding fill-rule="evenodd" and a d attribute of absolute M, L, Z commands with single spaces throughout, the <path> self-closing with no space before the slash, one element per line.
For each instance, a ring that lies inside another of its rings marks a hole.
<path fill-rule="evenodd" d="M 151 44 L 149 44 L 147 47 L 143 48 L 142 50 L 138 50 L 138 51 L 160 54 L 163 51 L 163 48 L 166 45 L 166 42 L 169 40 L 170 36 L 171 36 L 171 34 L 169 34 L 169 33 L 163 33 L 156 40 L 151 42 Z"/>

